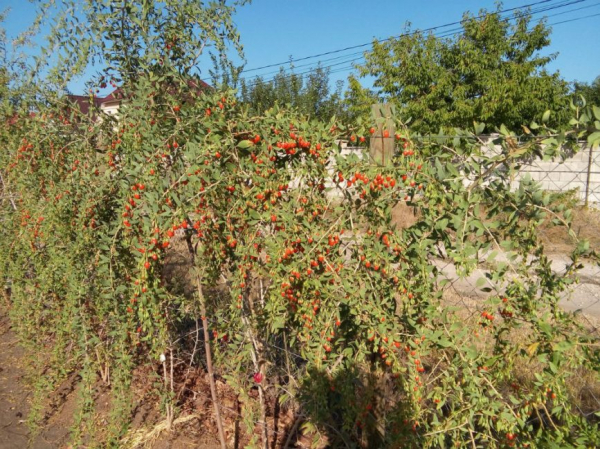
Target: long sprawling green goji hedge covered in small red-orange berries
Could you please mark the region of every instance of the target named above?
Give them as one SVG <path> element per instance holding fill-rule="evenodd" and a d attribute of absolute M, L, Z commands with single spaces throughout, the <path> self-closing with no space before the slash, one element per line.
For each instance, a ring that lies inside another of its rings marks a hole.
<path fill-rule="evenodd" d="M 597 375 L 598 347 L 558 300 L 581 258 L 596 256 L 579 242 L 566 273 L 553 272 L 536 229 L 569 227 L 570 212 L 536 183 L 510 181 L 528 157 L 597 145 L 600 111 L 573 106 L 572 130 L 534 124 L 518 145 L 501 129 L 495 153 L 477 125 L 424 140 L 399 118 L 390 134 L 384 119 L 321 123 L 283 106 L 250 116 L 188 67 L 200 45 L 225 45 L 220 27 L 235 41 L 231 11 L 165 3 L 168 13 L 91 2 L 102 17 L 79 36 L 86 45 L 67 47 L 59 68 L 76 72 L 92 54 L 110 62 L 91 88 L 118 83 L 117 116 L 33 86 L 5 105 L 0 274 L 23 341 L 44 354 L 39 407 L 81 375 L 73 443 L 100 432 L 102 381 L 111 425 L 97 444 L 119 446 L 140 365 L 164 373 L 156 388 L 172 420 L 168 365 L 172 376 L 200 322 L 256 445 L 272 438 L 275 398 L 315 446 L 593 447 L 597 417 L 574 406 L 569 380 Z M 226 18 L 199 31 L 191 12 Z M 396 142 L 386 165 L 339 144 L 380 132 Z M 395 224 L 398 204 L 414 224 Z M 167 276 L 176 251 L 187 292 Z M 439 259 L 461 275 L 485 263 L 477 316 L 445 300 Z"/>

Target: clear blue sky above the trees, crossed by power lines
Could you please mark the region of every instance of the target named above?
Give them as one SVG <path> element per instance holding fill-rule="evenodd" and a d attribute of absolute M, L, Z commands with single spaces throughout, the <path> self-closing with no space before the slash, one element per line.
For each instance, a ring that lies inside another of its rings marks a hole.
<path fill-rule="evenodd" d="M 503 9 L 520 7 L 540 0 L 506 0 Z M 2 9 L 10 7 L 5 28 L 9 36 L 24 29 L 34 16 L 34 7 L 24 0 L 0 0 Z M 241 8 L 234 20 L 246 52 L 247 69 L 299 59 L 349 46 L 370 43 L 401 34 L 405 24 L 413 29 L 426 29 L 459 21 L 465 11 L 477 14 L 481 8 L 494 9 L 492 0 L 253 0 Z M 547 53 L 558 53 L 548 66 L 559 70 L 567 81 L 591 82 L 600 75 L 600 0 L 546 0 L 533 8 L 555 8 L 534 15 L 548 15 L 553 25 L 552 43 Z M 573 20 L 575 19 L 575 20 Z M 573 20 L 568 23 L 557 23 Z M 440 28 L 436 33 L 451 31 Z M 331 79 L 345 80 L 352 72 L 352 60 L 360 58 L 368 46 L 334 53 L 328 56 L 296 62 L 296 71 L 314 67 L 318 61 L 331 67 Z M 360 62 L 360 61 L 358 61 Z M 273 76 L 278 67 L 251 71 L 256 75 Z M 203 70 L 208 74 L 208 70 Z M 84 80 L 73 83 L 75 93 L 83 93 Z M 365 80 L 368 85 L 369 81 Z"/>

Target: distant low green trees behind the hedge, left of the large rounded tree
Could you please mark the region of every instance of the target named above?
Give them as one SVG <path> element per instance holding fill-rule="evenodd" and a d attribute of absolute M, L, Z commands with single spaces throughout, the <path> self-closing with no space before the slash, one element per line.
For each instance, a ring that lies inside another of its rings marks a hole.
<path fill-rule="evenodd" d="M 288 73 L 283 68 L 271 80 L 258 77 L 252 81 L 240 82 L 241 101 L 250 107 L 251 112 L 262 114 L 276 103 L 290 105 L 308 116 L 329 120 L 341 115 L 342 83 L 331 91 L 329 69 L 317 67 L 307 75 Z"/>

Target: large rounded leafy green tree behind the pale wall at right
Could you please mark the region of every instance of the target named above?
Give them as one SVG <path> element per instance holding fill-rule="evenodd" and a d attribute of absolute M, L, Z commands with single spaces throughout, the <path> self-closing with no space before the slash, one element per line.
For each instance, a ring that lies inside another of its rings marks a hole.
<path fill-rule="evenodd" d="M 533 25 L 527 12 L 503 17 L 500 8 L 466 13 L 455 37 L 409 31 L 374 42 L 359 75 L 374 77 L 380 100 L 394 103 L 421 132 L 474 121 L 489 131 L 501 124 L 519 129 L 548 109 L 566 110 L 567 83 L 546 70 L 555 55 L 540 54 L 550 44 L 550 28 L 544 21 Z M 360 97 L 360 86 L 350 89 Z M 564 123 L 563 115 L 551 124 Z"/>

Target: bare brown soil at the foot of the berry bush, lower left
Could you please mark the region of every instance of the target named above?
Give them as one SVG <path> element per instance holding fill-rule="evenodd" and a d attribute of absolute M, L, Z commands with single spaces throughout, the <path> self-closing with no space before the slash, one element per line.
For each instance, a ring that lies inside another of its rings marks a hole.
<path fill-rule="evenodd" d="M 28 379 L 26 360 L 26 350 L 11 328 L 6 310 L 0 307 L 0 449 L 73 449 L 69 444 L 70 428 L 77 411 L 79 376 L 69 376 L 48 395 L 38 432 L 33 435 L 27 424 L 33 392 L 29 387 L 31 379 Z M 158 409 L 159 401 L 150 388 L 154 378 L 151 370 L 144 368 L 134 373 L 132 389 L 138 401 L 131 428 L 120 447 L 220 449 L 206 372 L 202 368 L 187 367 L 175 372 L 175 391 L 180 409 L 171 431 L 168 431 L 164 414 Z M 261 434 L 261 427 L 257 424 L 249 433 L 245 432 L 242 420 L 244 404 L 218 375 L 216 384 L 227 447 L 246 447 L 253 435 Z M 101 430 L 110 412 L 109 387 L 98 382 L 95 390 L 95 427 Z M 249 396 L 257 400 L 258 390 L 251 390 Z M 267 424 L 273 448 L 283 447 L 290 432 L 297 431 L 292 411 L 279 407 L 275 397 L 268 398 Z M 290 447 L 303 447 L 302 441 L 306 437 L 300 434 L 294 436 L 296 444 Z M 102 440 L 101 436 L 97 438 L 100 440 L 96 440 L 93 447 L 98 447 L 98 441 Z"/>

